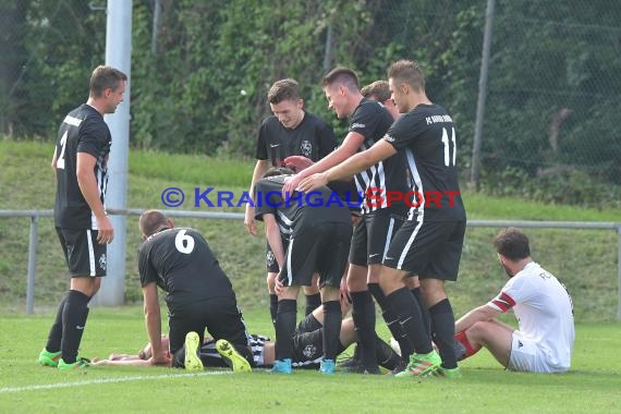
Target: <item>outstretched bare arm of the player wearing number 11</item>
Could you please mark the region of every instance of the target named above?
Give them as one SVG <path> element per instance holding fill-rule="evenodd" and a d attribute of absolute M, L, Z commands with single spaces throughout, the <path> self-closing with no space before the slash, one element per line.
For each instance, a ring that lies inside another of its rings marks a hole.
<path fill-rule="evenodd" d="M 397 149 L 385 139 L 380 139 L 369 149 L 356 154 L 326 172 L 307 176 L 302 180 L 297 188 L 303 192 L 309 192 L 331 181 L 348 179 L 394 154 L 397 154 Z"/>

